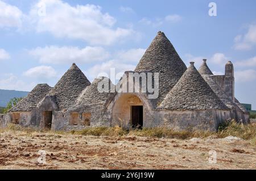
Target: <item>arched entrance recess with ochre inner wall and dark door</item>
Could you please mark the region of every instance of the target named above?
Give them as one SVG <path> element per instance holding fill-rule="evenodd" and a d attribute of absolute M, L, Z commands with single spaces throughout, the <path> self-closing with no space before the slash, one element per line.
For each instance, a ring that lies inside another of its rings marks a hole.
<path fill-rule="evenodd" d="M 143 102 L 137 95 L 122 94 L 114 103 L 112 126 L 142 128 L 144 123 Z"/>

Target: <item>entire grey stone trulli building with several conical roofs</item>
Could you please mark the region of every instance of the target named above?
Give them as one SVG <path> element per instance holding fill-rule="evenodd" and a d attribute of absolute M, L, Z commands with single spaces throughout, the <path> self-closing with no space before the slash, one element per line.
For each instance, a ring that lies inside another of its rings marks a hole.
<path fill-rule="evenodd" d="M 199 70 L 194 62 L 187 68 L 158 32 L 135 70 L 126 71 L 117 85 L 106 77 L 90 83 L 73 64 L 55 87 L 35 87 L 1 115 L 0 123 L 67 131 L 101 126 L 216 131 L 230 119 L 249 123 L 249 112 L 234 96 L 232 62 L 225 65 L 225 75 L 213 75 L 206 60 Z"/>

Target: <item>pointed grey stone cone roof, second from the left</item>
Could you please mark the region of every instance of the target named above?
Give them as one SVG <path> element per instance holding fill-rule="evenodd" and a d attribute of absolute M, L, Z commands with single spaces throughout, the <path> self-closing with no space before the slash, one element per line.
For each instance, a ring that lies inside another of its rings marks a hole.
<path fill-rule="evenodd" d="M 90 82 L 84 73 L 76 64 L 72 64 L 71 68 L 68 69 L 49 92 L 49 95 L 54 95 L 59 110 L 64 110 L 72 106 L 82 90 L 89 85 Z"/>

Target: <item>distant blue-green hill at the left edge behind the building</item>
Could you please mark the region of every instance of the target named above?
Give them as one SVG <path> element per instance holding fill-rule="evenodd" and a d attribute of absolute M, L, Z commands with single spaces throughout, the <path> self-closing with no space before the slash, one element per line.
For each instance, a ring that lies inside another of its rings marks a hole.
<path fill-rule="evenodd" d="M 0 89 L 0 107 L 6 107 L 6 104 L 13 98 L 23 98 L 27 96 L 26 91 L 2 90 Z"/>

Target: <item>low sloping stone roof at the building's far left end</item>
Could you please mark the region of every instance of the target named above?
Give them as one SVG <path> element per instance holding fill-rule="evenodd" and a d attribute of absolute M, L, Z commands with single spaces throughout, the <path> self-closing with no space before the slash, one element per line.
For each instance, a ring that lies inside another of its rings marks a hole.
<path fill-rule="evenodd" d="M 48 86 L 46 83 L 36 85 L 35 88 L 28 93 L 26 97 L 20 100 L 16 106 L 11 108 L 9 112 L 31 111 L 51 89 L 52 87 Z"/>

